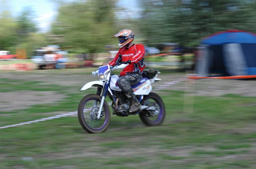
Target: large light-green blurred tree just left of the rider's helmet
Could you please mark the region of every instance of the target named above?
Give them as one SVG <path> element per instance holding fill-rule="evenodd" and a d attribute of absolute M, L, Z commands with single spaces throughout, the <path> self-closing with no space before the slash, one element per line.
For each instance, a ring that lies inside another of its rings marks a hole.
<path fill-rule="evenodd" d="M 115 0 L 61 3 L 52 33 L 64 34 L 61 45 L 72 46 L 77 53 L 100 51 L 113 42 L 111 35 L 116 33 L 113 4 Z"/>

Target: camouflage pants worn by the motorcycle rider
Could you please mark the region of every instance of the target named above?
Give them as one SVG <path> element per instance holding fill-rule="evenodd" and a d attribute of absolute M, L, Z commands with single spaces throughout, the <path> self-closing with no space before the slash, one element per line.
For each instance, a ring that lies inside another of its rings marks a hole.
<path fill-rule="evenodd" d="M 117 84 L 125 93 L 125 95 L 128 98 L 131 98 L 133 97 L 133 90 L 131 86 L 137 85 L 141 79 L 142 79 L 142 75 L 140 73 L 133 73 L 126 76 L 121 76 L 118 79 Z"/>

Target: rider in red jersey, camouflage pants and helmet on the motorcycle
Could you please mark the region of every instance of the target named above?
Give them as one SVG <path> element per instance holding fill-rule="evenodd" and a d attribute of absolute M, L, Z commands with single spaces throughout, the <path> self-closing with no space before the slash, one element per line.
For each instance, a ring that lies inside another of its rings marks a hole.
<path fill-rule="evenodd" d="M 123 29 L 113 37 L 118 37 L 120 49 L 113 60 L 109 62 L 109 65 L 114 66 L 121 62 L 130 61 L 129 65 L 120 72 L 117 84 L 125 93 L 125 96 L 131 99 L 129 113 L 136 112 L 140 109 L 141 104 L 134 95 L 131 86 L 137 85 L 142 79 L 141 73 L 145 68 L 145 48 L 143 44 L 135 45 L 131 43 L 134 40 L 134 34 L 129 29 Z"/>

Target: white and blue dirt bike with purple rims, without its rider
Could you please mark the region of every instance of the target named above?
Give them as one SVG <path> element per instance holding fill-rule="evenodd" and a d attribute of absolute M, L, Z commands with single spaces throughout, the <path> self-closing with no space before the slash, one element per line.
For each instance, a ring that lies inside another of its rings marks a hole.
<path fill-rule="evenodd" d="M 143 78 L 140 82 L 137 85 L 131 86 L 138 101 L 140 101 L 141 108 L 137 112 L 128 113 L 131 100 L 127 99 L 119 88 L 117 84 L 119 76 L 111 74 L 111 72 L 115 69 L 123 69 L 128 66 L 129 63 L 130 61 L 121 62 L 115 66 L 108 64 L 100 66 L 96 72 L 92 72 L 93 76 L 98 74 L 99 81 L 89 82 L 81 88 L 80 91 L 87 90 L 90 87 L 97 87 L 96 94 L 84 96 L 78 106 L 79 123 L 88 133 L 99 133 L 107 130 L 111 120 L 110 108 L 105 100 L 107 96 L 112 101 L 111 108 L 113 115 L 125 117 L 139 114 L 140 120 L 146 126 L 159 126 L 163 123 L 166 115 L 165 105 L 157 93 L 151 92 L 151 84 L 161 80 L 157 78 L 160 72 L 156 69 L 154 69 L 156 71 L 151 74 L 142 73 Z M 85 105 L 89 106 L 89 108 L 84 108 Z M 84 113 L 88 114 L 84 115 Z M 86 117 L 88 117 L 88 120 L 85 119 Z M 104 120 L 102 120 L 103 118 Z M 151 118 L 156 119 L 152 120 Z M 102 124 L 99 123 L 100 121 L 102 121 Z"/>

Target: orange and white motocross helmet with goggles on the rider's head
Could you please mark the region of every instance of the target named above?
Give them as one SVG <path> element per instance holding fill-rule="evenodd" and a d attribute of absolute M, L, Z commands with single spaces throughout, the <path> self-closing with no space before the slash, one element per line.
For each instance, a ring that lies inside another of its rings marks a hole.
<path fill-rule="evenodd" d="M 123 29 L 119 31 L 118 34 L 114 35 L 113 37 L 118 37 L 119 40 L 119 48 L 123 48 L 125 45 L 129 44 L 134 40 L 134 34 L 129 29 Z"/>

